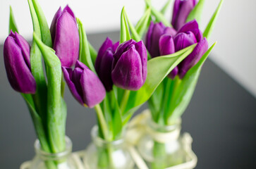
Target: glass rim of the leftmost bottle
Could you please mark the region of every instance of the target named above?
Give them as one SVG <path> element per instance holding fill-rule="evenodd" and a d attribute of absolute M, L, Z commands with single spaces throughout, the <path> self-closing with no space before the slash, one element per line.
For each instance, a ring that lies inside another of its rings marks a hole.
<path fill-rule="evenodd" d="M 49 153 L 42 149 L 39 139 L 37 139 L 34 144 L 35 152 L 37 155 L 40 156 L 40 158 L 44 160 L 54 161 L 54 160 L 60 160 L 61 158 L 66 158 L 66 156 L 71 154 L 73 145 L 72 145 L 71 139 L 69 139 L 67 136 L 65 137 L 65 140 L 66 140 L 66 149 L 64 151 L 61 151 L 59 153 Z"/>

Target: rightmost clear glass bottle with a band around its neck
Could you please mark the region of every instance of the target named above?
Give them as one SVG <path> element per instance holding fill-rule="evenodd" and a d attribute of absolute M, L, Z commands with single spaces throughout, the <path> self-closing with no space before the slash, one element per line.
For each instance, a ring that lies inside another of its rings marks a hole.
<path fill-rule="evenodd" d="M 185 161 L 180 132 L 181 119 L 167 126 L 158 125 L 151 118 L 147 120 L 138 151 L 150 168 L 164 169 Z"/>

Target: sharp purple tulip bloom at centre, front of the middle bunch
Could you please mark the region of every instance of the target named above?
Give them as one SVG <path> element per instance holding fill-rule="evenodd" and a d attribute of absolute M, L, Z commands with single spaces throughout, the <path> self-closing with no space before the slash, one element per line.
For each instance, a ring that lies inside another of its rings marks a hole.
<path fill-rule="evenodd" d="M 112 80 L 117 87 L 138 90 L 147 77 L 147 49 L 142 41 L 130 39 L 120 44 L 114 54 Z"/>

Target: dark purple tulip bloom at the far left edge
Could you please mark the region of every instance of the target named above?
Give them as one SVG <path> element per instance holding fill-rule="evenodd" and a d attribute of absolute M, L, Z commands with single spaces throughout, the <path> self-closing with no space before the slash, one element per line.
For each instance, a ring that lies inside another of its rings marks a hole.
<path fill-rule="evenodd" d="M 30 44 L 17 32 L 11 31 L 4 42 L 4 64 L 13 89 L 35 94 L 37 85 L 30 68 Z"/>

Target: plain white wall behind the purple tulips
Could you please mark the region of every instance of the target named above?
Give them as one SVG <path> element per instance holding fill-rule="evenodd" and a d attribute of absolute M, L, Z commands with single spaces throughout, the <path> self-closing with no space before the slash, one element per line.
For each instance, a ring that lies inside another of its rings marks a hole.
<path fill-rule="evenodd" d="M 144 10 L 143 0 L 38 0 L 49 24 L 59 6 L 69 4 L 75 15 L 83 21 L 87 32 L 118 30 L 122 6 L 126 6 L 130 19 L 135 23 Z M 161 8 L 164 0 L 152 0 L 156 8 Z M 202 18 L 205 28 L 219 1 L 207 0 Z M 23 0 L 1 0 L 0 2 L 0 43 L 8 35 L 8 6 L 13 7 L 20 33 L 31 39 L 32 23 L 28 2 Z M 217 25 L 212 35 L 212 44 L 218 40 L 212 60 L 226 70 L 235 80 L 256 96 L 256 1 L 224 0 Z M 168 13 L 171 18 L 171 9 Z"/>

